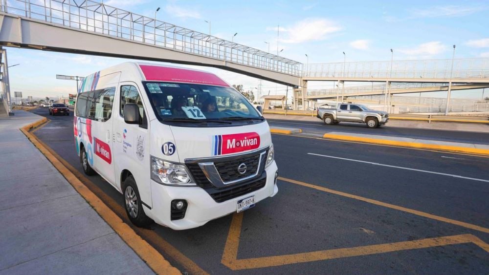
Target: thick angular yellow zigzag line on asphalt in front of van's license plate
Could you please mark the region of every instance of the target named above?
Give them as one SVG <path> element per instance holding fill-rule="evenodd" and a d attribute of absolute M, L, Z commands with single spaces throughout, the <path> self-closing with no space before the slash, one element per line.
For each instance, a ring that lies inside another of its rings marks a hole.
<path fill-rule="evenodd" d="M 372 255 L 403 250 L 431 248 L 463 243 L 473 243 L 489 253 L 489 245 L 487 243 L 472 234 L 462 234 L 413 241 L 359 246 L 352 248 L 339 248 L 297 254 L 238 259 L 238 248 L 242 223 L 243 212 L 234 214 L 231 221 L 231 227 L 229 228 L 229 233 L 227 235 L 224 253 L 222 254 L 222 264 L 232 270 L 281 266 L 287 264 Z"/>

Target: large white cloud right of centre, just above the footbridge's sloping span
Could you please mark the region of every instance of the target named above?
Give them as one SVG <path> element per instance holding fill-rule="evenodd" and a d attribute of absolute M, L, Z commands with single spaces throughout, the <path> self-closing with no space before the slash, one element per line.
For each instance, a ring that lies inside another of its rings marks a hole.
<path fill-rule="evenodd" d="M 267 27 L 267 30 L 277 30 L 277 27 Z M 338 32 L 341 28 L 336 22 L 323 18 L 307 18 L 295 22 L 291 26 L 280 27 L 281 39 L 284 43 L 301 43 L 307 41 L 321 41 L 327 35 Z M 285 34 L 284 34 L 285 33 Z"/>

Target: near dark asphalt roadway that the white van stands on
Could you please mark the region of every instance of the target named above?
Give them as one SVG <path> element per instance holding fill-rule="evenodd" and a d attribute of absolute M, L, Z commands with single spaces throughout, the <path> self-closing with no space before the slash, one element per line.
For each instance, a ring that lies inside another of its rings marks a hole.
<path fill-rule="evenodd" d="M 73 144 L 73 116 L 51 117 L 43 108 L 33 112 L 51 119 L 34 134 L 83 173 Z M 190 274 L 197 273 L 192 263 L 210 274 L 489 274 L 489 247 L 437 240 L 442 246 L 413 249 L 417 240 L 460 234 L 489 243 L 489 158 L 278 134 L 272 139 L 280 176 L 317 187 L 279 180 L 275 197 L 243 213 L 237 258 L 278 256 L 276 261 L 249 261 L 240 270 L 222 264 L 232 215 L 187 231 L 158 225 L 133 229 Z M 100 176 L 80 178 L 129 223 L 120 193 Z M 358 248 L 398 242 L 406 242 L 402 251 Z M 283 257 L 334 249 L 334 257 L 322 260 L 301 262 L 311 254 Z"/>

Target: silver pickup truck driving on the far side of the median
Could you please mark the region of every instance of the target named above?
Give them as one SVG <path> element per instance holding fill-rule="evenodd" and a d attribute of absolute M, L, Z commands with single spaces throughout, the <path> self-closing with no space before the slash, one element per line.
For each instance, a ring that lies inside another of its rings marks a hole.
<path fill-rule="evenodd" d="M 358 104 L 341 104 L 338 109 L 317 109 L 317 118 L 324 124 L 338 124 L 341 121 L 365 123 L 369 128 L 376 128 L 389 121 L 389 114 L 383 111 L 370 110 Z"/>

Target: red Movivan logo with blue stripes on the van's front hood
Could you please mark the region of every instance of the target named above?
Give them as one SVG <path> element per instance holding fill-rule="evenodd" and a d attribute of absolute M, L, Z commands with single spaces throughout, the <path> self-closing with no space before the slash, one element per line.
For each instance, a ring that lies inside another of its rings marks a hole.
<path fill-rule="evenodd" d="M 260 135 L 256 132 L 213 136 L 213 155 L 243 152 L 260 147 Z"/>

